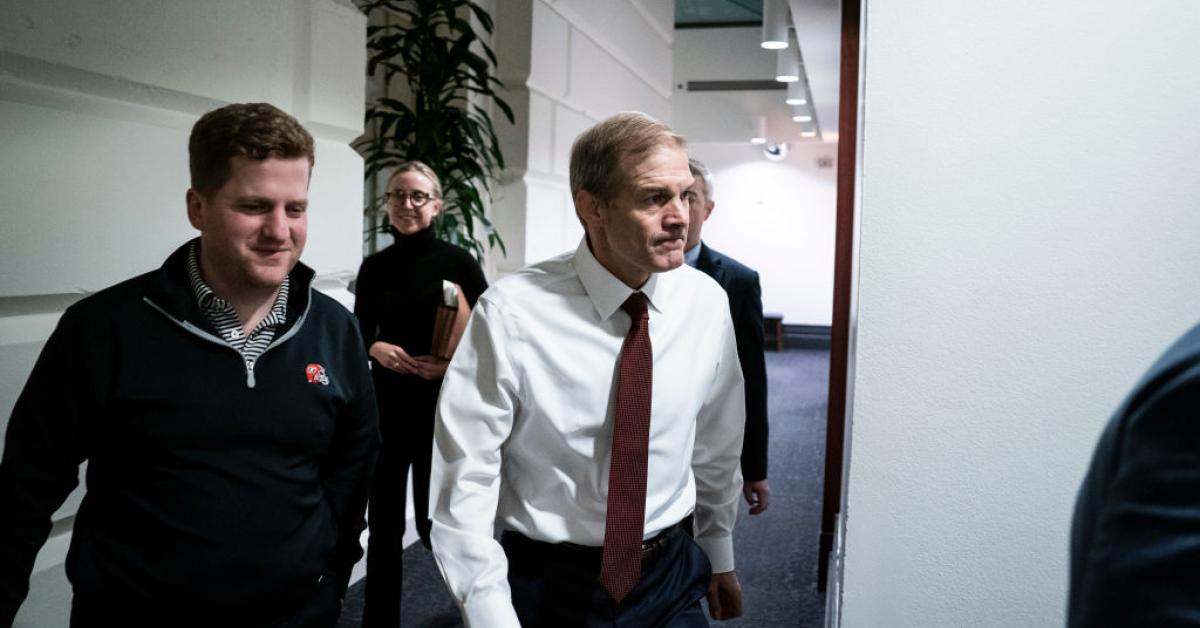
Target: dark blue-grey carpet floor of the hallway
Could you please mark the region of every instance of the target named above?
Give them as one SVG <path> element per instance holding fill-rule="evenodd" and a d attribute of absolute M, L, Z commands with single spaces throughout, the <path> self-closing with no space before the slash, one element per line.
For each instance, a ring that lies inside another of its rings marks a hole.
<path fill-rule="evenodd" d="M 730 628 L 817 628 L 824 596 L 817 592 L 817 539 L 824 476 L 827 351 L 767 352 L 770 397 L 770 508 L 757 516 L 743 504 L 733 533 L 745 614 L 713 622 Z M 359 581 L 347 592 L 338 628 L 358 628 Z M 404 628 L 461 627 L 458 609 L 433 563 L 416 543 L 404 550 Z"/>

